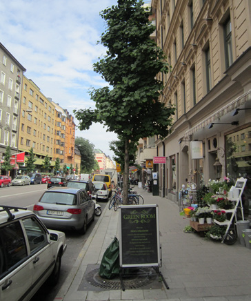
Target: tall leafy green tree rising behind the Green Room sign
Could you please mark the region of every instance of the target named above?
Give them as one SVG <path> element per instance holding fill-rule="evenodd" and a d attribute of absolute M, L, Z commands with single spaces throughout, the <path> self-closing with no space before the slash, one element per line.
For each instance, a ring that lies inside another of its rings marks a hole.
<path fill-rule="evenodd" d="M 168 72 L 161 48 L 150 39 L 155 27 L 149 21 L 150 10 L 142 0 L 118 0 L 117 6 L 101 12 L 106 32 L 101 43 L 108 48 L 106 56 L 94 64 L 109 86 L 90 90 L 95 108 L 74 110 L 80 130 L 100 122 L 123 137 L 125 144 L 123 187 L 128 187 L 129 149 L 140 138 L 168 135 L 174 108 L 158 101 L 163 82 L 159 72 Z M 127 189 L 123 191 L 126 204 Z"/>

